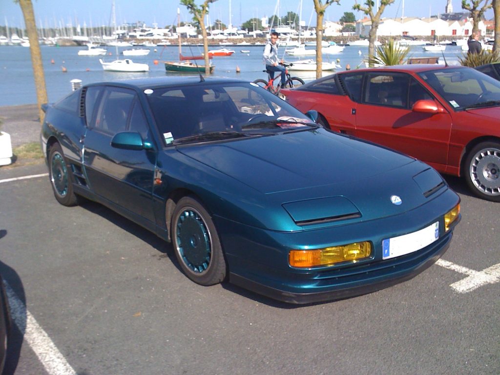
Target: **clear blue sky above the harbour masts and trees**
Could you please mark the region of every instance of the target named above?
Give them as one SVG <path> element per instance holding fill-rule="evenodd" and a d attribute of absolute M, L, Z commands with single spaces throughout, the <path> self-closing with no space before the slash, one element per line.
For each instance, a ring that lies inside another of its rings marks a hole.
<path fill-rule="evenodd" d="M 195 1 L 197 4 L 201 0 Z M 364 2 L 364 0 L 359 0 Z M 430 14 L 443 13 L 446 0 L 395 0 L 385 8 L 382 17 L 400 17 L 404 2 L 404 16 L 428 17 Z M 53 27 L 57 24 L 83 22 L 93 26 L 111 24 L 111 0 L 32 0 L 37 25 Z M 229 23 L 229 3 L 231 5 L 231 21 L 238 25 L 252 17 L 271 16 L 276 8 L 277 0 L 217 0 L 210 4 L 210 21 L 216 18 L 222 22 Z M 280 0 L 279 12 L 283 16 L 287 11 L 299 13 L 299 0 Z M 376 3 L 376 1 L 375 1 Z M 313 0 L 303 0 L 302 20 L 307 25 L 311 17 L 310 25 L 314 26 L 315 13 L 313 12 Z M 352 10 L 353 0 L 340 0 L 340 5 L 330 5 L 325 13 L 325 19 L 336 21 L 345 11 L 351 11 L 356 18 L 361 18 L 362 13 Z M 461 11 L 461 0 L 452 0 L 453 11 Z M 189 21 L 192 16 L 186 8 L 179 5 L 178 0 L 115 0 L 116 22 L 143 21 L 148 26 L 153 22 L 158 27 L 176 23 L 176 8 L 180 8 L 180 17 L 183 21 Z M 486 12 L 486 18 L 493 17 L 493 11 Z M 13 0 L 0 0 L 0 25 L 5 24 L 5 18 L 9 26 L 22 26 L 24 24 L 22 13 L 18 4 Z M 76 22 L 77 20 L 77 22 Z"/>

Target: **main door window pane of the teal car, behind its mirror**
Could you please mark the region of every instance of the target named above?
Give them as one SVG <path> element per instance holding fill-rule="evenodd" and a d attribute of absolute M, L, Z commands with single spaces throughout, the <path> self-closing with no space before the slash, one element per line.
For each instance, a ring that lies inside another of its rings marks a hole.
<path fill-rule="evenodd" d="M 133 90 L 106 87 L 102 94 L 94 127 L 111 135 L 125 131 L 134 98 L 135 92 Z"/>

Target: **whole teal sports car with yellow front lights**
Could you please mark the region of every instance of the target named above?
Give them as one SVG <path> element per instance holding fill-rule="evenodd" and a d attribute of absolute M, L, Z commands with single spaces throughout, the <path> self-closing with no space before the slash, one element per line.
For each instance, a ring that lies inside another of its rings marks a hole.
<path fill-rule="evenodd" d="M 92 199 L 149 229 L 201 285 L 291 303 L 371 292 L 433 264 L 460 219 L 427 164 L 324 129 L 254 83 L 92 83 L 43 108 L 57 201 Z"/>

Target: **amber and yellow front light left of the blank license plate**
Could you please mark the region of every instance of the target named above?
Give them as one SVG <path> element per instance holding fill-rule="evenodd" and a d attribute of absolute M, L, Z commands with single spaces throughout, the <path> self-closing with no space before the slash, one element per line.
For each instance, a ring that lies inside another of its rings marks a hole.
<path fill-rule="evenodd" d="M 313 250 L 291 250 L 288 262 L 292 267 L 315 267 L 332 265 L 346 260 L 358 260 L 366 258 L 370 254 L 371 244 L 364 241 Z"/>

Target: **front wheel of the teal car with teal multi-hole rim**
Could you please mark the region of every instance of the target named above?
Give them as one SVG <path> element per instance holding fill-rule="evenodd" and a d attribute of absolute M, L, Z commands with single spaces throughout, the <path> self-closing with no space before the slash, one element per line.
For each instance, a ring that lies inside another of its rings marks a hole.
<path fill-rule="evenodd" d="M 196 198 L 179 199 L 172 214 L 171 233 L 175 256 L 187 277 L 200 285 L 224 280 L 226 264 L 217 230 Z"/>

